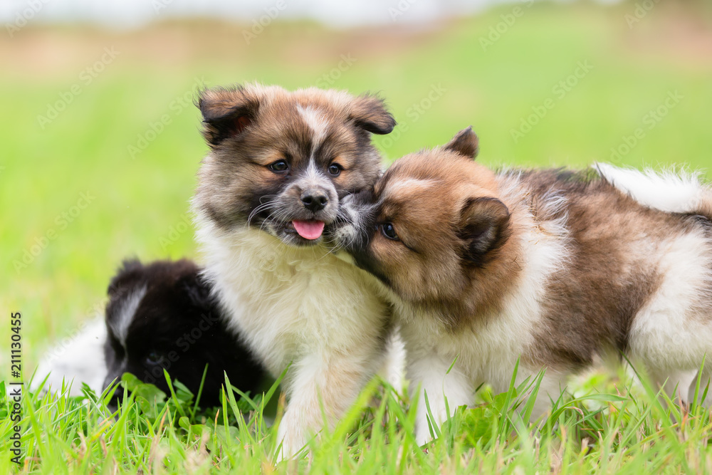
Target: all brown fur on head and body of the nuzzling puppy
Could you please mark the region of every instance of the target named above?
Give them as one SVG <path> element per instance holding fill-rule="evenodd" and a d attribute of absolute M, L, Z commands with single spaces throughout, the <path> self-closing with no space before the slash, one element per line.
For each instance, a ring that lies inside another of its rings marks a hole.
<path fill-rule="evenodd" d="M 606 347 L 625 351 L 634 315 L 661 281 L 648 252 L 709 221 L 643 207 L 590 173 L 495 174 L 471 160 L 473 143 L 464 130 L 445 147 L 407 155 L 387 170 L 375 187 L 372 221 L 362 228 L 365 245 L 351 250 L 357 263 L 459 333 L 496 318 L 518 286 L 528 220 L 560 220 L 569 256 L 542 283 L 545 318 L 523 358 L 573 368 Z M 379 231 L 384 223 L 399 240 Z"/>

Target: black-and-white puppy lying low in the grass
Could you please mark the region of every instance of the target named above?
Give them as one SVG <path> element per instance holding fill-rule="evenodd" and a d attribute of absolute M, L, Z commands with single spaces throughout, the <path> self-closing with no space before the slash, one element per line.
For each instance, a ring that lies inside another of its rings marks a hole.
<path fill-rule="evenodd" d="M 74 378 L 72 392 L 78 395 L 79 381 L 100 393 L 130 372 L 169 393 L 165 369 L 197 395 L 208 365 L 202 407 L 220 404 L 225 373 L 235 387 L 254 392 L 265 373 L 225 327 L 218 302 L 199 271 L 187 260 L 125 261 L 109 284 L 105 320 L 88 325 L 68 353 L 48 360 L 37 375 L 43 379 L 51 372 L 54 387 L 62 378 Z M 121 393 L 119 388 L 115 401 Z"/>

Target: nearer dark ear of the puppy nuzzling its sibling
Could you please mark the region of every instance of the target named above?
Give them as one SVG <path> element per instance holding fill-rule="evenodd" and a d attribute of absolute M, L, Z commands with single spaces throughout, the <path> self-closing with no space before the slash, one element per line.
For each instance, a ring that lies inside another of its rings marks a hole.
<path fill-rule="evenodd" d="M 459 236 L 464 241 L 464 258 L 476 266 L 488 261 L 491 251 L 502 246 L 510 234 L 510 214 L 496 198 L 468 199 L 461 210 Z"/>

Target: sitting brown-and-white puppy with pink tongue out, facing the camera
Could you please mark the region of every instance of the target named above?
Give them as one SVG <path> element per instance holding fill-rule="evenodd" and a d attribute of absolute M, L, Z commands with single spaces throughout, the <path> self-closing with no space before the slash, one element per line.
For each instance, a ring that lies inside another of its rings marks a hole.
<path fill-rule="evenodd" d="M 382 361 L 389 308 L 324 231 L 343 197 L 379 177 L 370 135 L 395 121 L 373 96 L 316 88 L 206 90 L 198 105 L 210 147 L 193 200 L 205 275 L 263 365 L 276 376 L 291 364 L 278 430 L 278 455 L 290 456 Z"/>

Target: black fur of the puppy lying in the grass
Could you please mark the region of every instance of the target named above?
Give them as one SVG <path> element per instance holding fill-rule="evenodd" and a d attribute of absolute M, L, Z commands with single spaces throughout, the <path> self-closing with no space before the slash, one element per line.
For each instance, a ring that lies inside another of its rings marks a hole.
<path fill-rule="evenodd" d="M 143 287 L 145 296 L 130 315 L 124 345 L 114 328 L 122 318 L 127 300 Z M 219 405 L 224 373 L 232 385 L 245 392 L 253 392 L 263 380 L 265 372 L 226 327 L 226 318 L 211 295 L 211 286 L 191 261 L 156 261 L 145 265 L 125 261 L 112 278 L 109 296 L 105 386 L 130 372 L 169 392 L 163 376 L 165 368 L 172 379 L 197 395 L 208 365 L 201 394 L 201 406 L 208 407 Z"/>

